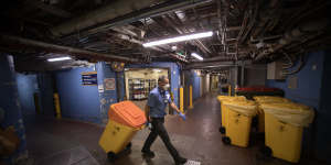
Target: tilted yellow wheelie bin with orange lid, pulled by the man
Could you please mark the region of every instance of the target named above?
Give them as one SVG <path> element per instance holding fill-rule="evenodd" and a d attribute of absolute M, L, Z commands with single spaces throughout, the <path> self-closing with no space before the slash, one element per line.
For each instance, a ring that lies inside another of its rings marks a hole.
<path fill-rule="evenodd" d="M 99 145 L 107 153 L 109 161 L 115 161 L 122 151 L 130 150 L 135 134 L 143 129 L 146 116 L 131 101 L 122 101 L 110 106 L 109 121 L 99 140 Z"/>

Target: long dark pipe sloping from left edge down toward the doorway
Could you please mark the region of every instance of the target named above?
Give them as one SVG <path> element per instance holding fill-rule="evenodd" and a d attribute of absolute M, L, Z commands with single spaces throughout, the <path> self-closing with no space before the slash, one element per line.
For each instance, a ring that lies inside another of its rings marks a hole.
<path fill-rule="evenodd" d="M 55 44 L 49 44 L 40 41 L 23 38 L 13 35 L 0 34 L 0 47 L 20 47 L 20 48 L 33 48 L 36 51 L 44 51 L 50 53 L 63 53 L 68 54 L 77 57 L 84 58 L 93 58 L 97 61 L 105 61 L 105 62 L 128 62 L 128 63 L 138 63 L 138 59 L 129 58 L 129 57 L 121 57 L 111 54 L 104 54 L 104 53 L 96 53 L 90 52 L 82 48 L 75 48 L 70 46 L 62 46 Z"/>

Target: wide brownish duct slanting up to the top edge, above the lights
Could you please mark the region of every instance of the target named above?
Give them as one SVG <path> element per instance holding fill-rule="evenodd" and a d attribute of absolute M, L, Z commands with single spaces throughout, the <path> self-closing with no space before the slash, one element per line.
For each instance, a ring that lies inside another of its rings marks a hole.
<path fill-rule="evenodd" d="M 152 6 L 157 0 L 118 0 L 108 6 L 88 12 L 79 18 L 60 24 L 51 32 L 55 36 L 81 36 L 107 31 L 115 25 L 124 25 L 143 18 L 162 15 L 175 10 L 192 8 L 211 0 L 172 0 Z"/>

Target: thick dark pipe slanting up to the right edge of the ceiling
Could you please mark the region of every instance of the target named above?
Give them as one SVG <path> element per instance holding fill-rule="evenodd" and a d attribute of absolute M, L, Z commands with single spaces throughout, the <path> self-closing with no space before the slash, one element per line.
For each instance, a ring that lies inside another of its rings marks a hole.
<path fill-rule="evenodd" d="M 284 46 L 292 43 L 293 41 L 300 40 L 303 35 L 313 35 L 318 31 L 322 31 L 329 26 L 328 19 L 314 20 L 311 22 L 307 22 L 305 24 L 299 25 L 297 29 L 289 31 L 284 34 L 282 38 L 278 41 L 278 43 L 258 54 L 255 61 L 260 61 L 267 55 L 275 53 L 281 50 Z"/>

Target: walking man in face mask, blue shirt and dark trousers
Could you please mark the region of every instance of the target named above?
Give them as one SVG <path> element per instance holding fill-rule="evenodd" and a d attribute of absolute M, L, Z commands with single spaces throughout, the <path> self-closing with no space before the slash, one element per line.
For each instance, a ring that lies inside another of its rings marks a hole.
<path fill-rule="evenodd" d="M 182 165 L 185 164 L 188 160 L 180 156 L 178 151 L 174 148 L 163 125 L 168 103 L 184 119 L 184 114 L 181 113 L 178 107 L 171 101 L 168 92 L 169 87 L 169 79 L 166 76 L 161 76 L 158 79 L 158 87 L 152 89 L 148 96 L 146 117 L 148 122 L 151 123 L 151 132 L 147 138 L 141 152 L 145 157 L 154 157 L 154 153 L 150 151 L 150 147 L 156 139 L 160 136 L 174 160 L 175 165 Z"/>

